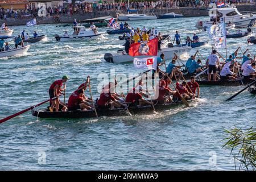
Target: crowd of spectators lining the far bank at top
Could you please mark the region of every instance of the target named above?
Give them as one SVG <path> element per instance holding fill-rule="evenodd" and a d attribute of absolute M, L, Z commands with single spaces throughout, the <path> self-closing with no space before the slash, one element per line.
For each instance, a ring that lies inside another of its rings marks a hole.
<path fill-rule="evenodd" d="M 180 7 L 208 7 L 209 3 L 215 2 L 216 0 L 170 0 L 167 1 L 168 8 L 180 8 Z M 235 5 L 255 5 L 256 0 L 226 0 L 225 3 Z M 130 1 L 129 7 L 127 2 L 115 2 L 110 3 L 104 1 L 102 3 L 80 3 L 75 6 L 68 5 L 65 7 L 48 7 L 47 16 L 52 15 L 73 15 L 82 14 L 95 11 L 114 11 L 122 10 L 127 11 L 128 9 L 166 9 L 166 1 Z M 39 7 L 27 10 L 12 10 L 3 9 L 0 6 L 0 19 L 15 18 L 24 19 L 31 18 L 38 15 Z"/>

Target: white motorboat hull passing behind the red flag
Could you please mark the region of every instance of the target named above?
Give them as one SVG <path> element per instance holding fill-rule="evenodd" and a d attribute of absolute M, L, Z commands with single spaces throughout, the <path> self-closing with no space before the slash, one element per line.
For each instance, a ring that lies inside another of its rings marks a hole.
<path fill-rule="evenodd" d="M 165 59 L 170 60 L 172 59 L 172 57 L 174 57 L 174 53 L 176 53 L 179 56 L 182 56 L 190 50 L 191 50 L 190 46 L 163 48 L 158 51 L 158 56 L 160 56 L 161 53 L 164 53 Z M 133 63 L 134 58 L 143 58 L 143 57 L 149 57 L 149 56 L 132 57 L 130 55 L 127 55 L 124 50 L 119 50 L 118 53 L 114 55 L 112 55 L 112 53 L 105 53 L 104 55 L 104 59 L 109 63 Z"/>

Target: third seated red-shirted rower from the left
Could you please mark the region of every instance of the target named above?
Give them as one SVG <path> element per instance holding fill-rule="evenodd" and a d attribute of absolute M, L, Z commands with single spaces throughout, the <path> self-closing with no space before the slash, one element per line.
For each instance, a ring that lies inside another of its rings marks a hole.
<path fill-rule="evenodd" d="M 145 100 L 143 96 L 148 98 L 148 95 L 142 92 L 142 86 L 138 85 L 136 88 L 132 88 L 129 91 L 126 96 L 125 102 L 129 103 L 129 106 L 151 105 L 152 102 Z"/>

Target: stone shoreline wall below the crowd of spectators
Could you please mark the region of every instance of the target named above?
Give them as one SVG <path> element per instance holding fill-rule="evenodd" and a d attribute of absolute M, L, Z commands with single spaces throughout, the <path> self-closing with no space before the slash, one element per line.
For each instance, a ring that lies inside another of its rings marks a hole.
<path fill-rule="evenodd" d="M 237 10 L 240 12 L 243 11 L 256 11 L 255 5 L 237 5 Z M 152 12 L 151 9 L 148 10 L 139 10 L 139 14 L 150 14 Z M 180 7 L 179 9 L 168 9 L 168 13 L 177 13 L 177 14 L 183 14 L 185 18 L 188 17 L 199 17 L 199 16 L 208 16 L 207 9 L 201 9 L 201 8 L 189 8 L 189 7 Z M 90 18 L 97 18 L 100 16 L 108 16 L 112 15 L 115 17 L 117 11 L 96 11 L 91 13 L 85 13 L 85 14 L 75 14 L 75 15 L 60 15 L 59 20 L 60 22 L 56 22 L 55 16 L 49 16 L 49 17 L 36 17 L 36 22 L 38 24 L 60 24 L 60 23 L 72 23 L 74 19 L 76 19 L 78 22 L 83 21 L 85 19 Z M 119 13 L 126 14 L 126 11 L 119 11 Z M 154 9 L 154 14 L 156 16 L 159 16 L 160 14 L 166 13 L 166 9 Z M 26 25 L 26 23 L 31 20 L 32 18 L 28 19 L 14 19 L 9 18 L 6 20 L 0 20 L 0 24 L 6 23 L 8 26 L 22 26 Z"/>

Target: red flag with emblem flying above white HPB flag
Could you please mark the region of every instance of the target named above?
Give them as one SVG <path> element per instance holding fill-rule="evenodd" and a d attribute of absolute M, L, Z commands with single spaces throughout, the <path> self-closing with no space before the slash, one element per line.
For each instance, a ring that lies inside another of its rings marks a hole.
<path fill-rule="evenodd" d="M 144 42 L 138 42 L 130 45 L 130 56 L 157 56 L 158 55 L 158 39 L 152 39 Z"/>

